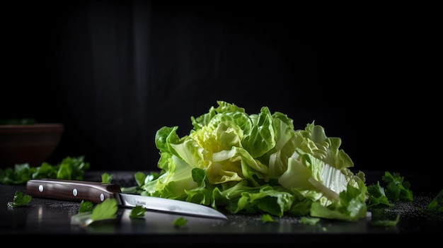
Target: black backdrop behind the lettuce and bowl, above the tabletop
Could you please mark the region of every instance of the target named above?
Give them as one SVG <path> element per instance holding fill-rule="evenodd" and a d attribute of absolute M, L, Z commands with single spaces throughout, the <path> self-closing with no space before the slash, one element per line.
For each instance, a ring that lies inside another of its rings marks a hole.
<path fill-rule="evenodd" d="M 429 8 L 259 3 L 8 3 L 0 118 L 63 123 L 48 162 L 91 170 L 156 169 L 156 131 L 188 134 L 217 100 L 315 121 L 355 170 L 422 163 L 439 136 Z"/>

